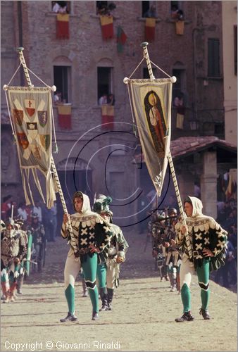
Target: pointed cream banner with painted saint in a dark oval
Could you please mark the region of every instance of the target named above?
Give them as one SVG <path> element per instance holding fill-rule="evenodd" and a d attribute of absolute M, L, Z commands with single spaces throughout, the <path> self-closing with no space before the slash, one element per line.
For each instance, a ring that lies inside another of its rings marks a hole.
<path fill-rule="evenodd" d="M 127 80 L 144 160 L 158 196 L 170 151 L 172 82 L 160 80 Z"/>

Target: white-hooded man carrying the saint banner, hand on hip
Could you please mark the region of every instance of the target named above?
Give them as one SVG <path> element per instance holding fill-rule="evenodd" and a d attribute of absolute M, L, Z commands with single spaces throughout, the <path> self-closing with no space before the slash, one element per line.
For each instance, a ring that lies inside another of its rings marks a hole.
<path fill-rule="evenodd" d="M 203 204 L 200 199 L 187 196 L 184 201 L 184 210 L 187 215 L 186 226 L 180 222 L 175 225 L 176 241 L 182 249 L 182 264 L 180 268 L 181 298 L 183 315 L 175 319 L 176 322 L 192 321 L 190 284 L 192 275 L 197 273 L 201 287 L 201 309 L 203 319 L 209 320 L 208 302 L 209 272 L 218 270 L 224 265 L 227 232 L 210 216 L 203 215 Z M 184 234 L 187 231 L 192 247 L 193 258 L 189 258 Z"/>

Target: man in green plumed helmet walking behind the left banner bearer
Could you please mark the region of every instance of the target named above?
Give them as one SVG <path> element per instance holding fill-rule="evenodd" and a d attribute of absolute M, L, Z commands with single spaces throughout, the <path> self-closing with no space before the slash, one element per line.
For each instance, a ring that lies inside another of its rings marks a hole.
<path fill-rule="evenodd" d="M 109 208 L 110 196 L 100 194 L 94 202 L 94 211 L 110 223 L 113 232 L 110 248 L 99 253 L 96 277 L 99 280 L 99 291 L 102 302 L 101 310 L 112 310 L 113 293 L 119 284 L 120 263 L 125 261 L 125 253 L 129 247 L 122 230 L 112 223 L 113 212 Z"/>

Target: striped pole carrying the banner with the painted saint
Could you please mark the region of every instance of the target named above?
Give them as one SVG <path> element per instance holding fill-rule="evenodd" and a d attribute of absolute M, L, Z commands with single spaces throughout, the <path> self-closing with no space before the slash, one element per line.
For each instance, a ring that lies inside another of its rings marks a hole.
<path fill-rule="evenodd" d="M 147 65 L 147 68 L 149 70 L 149 77 L 150 77 L 151 80 L 154 80 L 154 75 L 153 75 L 153 71 L 152 71 L 152 68 L 151 68 L 151 61 L 149 59 L 149 53 L 148 53 L 148 50 L 147 50 L 147 45 L 148 44 L 149 43 L 147 43 L 147 42 L 143 42 L 141 45 L 142 45 L 142 48 L 143 48 L 143 51 L 144 51 L 144 58 L 146 59 L 146 65 Z M 179 189 L 178 184 L 177 184 L 177 177 L 176 177 L 176 174 L 175 174 L 175 168 L 174 168 L 174 165 L 173 165 L 173 159 L 172 159 L 170 151 L 168 152 L 168 164 L 170 165 L 170 171 L 171 171 L 171 175 L 172 175 L 172 179 L 173 179 L 173 184 L 174 184 L 174 187 L 175 187 L 175 194 L 176 194 L 176 197 L 177 197 L 177 204 L 179 206 L 182 222 L 183 222 L 184 225 L 186 225 L 185 213 L 184 213 L 184 209 L 183 209 L 182 201 L 181 201 L 181 196 L 180 196 L 180 189 Z M 192 259 L 193 258 L 193 256 L 192 256 L 192 247 L 191 247 L 191 243 L 190 243 L 190 240 L 189 240 L 189 234 L 187 232 L 184 233 L 184 238 L 185 238 L 187 250 L 188 250 L 188 253 L 189 253 L 189 258 Z"/>

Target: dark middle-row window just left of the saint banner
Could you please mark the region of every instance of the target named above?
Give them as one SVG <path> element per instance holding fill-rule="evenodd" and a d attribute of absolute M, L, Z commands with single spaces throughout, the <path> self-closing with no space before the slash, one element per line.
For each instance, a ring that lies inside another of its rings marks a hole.
<path fill-rule="evenodd" d="M 113 93 L 112 90 L 112 68 L 98 67 L 97 68 L 97 95 L 98 99 L 105 94 Z"/>

